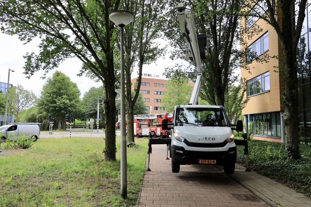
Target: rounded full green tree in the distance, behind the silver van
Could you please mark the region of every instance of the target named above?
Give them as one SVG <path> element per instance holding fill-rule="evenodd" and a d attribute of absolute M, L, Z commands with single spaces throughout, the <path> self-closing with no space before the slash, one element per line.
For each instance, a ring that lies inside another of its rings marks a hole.
<path fill-rule="evenodd" d="M 44 84 L 38 106 L 41 111 L 55 117 L 60 126 L 60 121 L 65 114 L 74 117 L 83 111 L 79 97 L 80 91 L 77 84 L 73 83 L 64 73 L 56 71 L 52 78 L 48 78 Z M 46 117 L 43 120 L 46 120 Z M 58 127 L 58 129 L 60 128 Z"/>

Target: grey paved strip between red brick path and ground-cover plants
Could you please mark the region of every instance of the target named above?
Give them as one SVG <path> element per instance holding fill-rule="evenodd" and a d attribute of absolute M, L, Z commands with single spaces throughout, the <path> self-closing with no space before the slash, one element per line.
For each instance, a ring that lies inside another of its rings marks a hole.
<path fill-rule="evenodd" d="M 284 207 L 311 206 L 309 197 L 256 172 L 245 172 L 245 168 L 241 165 L 235 165 L 235 172 L 230 177 L 270 205 Z"/>

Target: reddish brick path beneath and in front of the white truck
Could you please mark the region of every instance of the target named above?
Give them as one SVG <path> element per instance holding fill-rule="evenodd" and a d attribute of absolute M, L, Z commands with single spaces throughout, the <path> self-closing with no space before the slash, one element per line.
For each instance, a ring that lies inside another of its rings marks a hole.
<path fill-rule="evenodd" d="M 262 200 L 243 200 L 253 194 L 213 165 L 181 165 L 172 173 L 166 146 L 152 146 L 151 172 L 145 172 L 138 206 L 269 206 Z"/>

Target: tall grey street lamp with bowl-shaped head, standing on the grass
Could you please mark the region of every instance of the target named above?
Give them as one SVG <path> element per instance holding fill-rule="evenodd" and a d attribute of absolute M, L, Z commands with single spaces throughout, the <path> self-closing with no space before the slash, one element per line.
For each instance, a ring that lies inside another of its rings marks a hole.
<path fill-rule="evenodd" d="M 126 161 L 126 131 L 125 131 L 125 97 L 124 97 L 124 54 L 123 54 L 123 36 L 124 27 L 134 20 L 134 15 L 129 11 L 113 11 L 109 14 L 109 19 L 121 28 L 120 55 L 121 55 L 121 196 L 125 199 L 128 197 L 127 181 L 127 161 Z"/>

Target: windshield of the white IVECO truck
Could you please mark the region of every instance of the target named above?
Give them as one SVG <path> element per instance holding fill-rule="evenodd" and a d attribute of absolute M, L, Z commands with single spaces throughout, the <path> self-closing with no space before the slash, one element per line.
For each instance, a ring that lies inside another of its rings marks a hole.
<path fill-rule="evenodd" d="M 220 108 L 177 108 L 175 126 L 228 126 Z"/>

